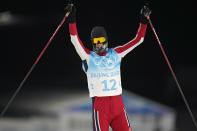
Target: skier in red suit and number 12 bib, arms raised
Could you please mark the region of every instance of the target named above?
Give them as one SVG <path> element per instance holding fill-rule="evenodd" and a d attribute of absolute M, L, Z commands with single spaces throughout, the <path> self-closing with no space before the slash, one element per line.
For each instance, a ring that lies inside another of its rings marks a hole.
<path fill-rule="evenodd" d="M 116 48 L 108 48 L 108 37 L 104 27 L 94 27 L 91 31 L 93 51 L 85 48 L 78 36 L 75 6 L 69 4 L 66 9 L 71 12 L 68 18 L 71 42 L 82 60 L 82 67 L 87 75 L 89 94 L 93 103 L 93 130 L 108 131 L 111 126 L 113 131 L 131 131 L 121 98 L 120 63 L 126 54 L 144 40 L 150 9 L 148 6 L 141 9 L 136 37 Z"/>

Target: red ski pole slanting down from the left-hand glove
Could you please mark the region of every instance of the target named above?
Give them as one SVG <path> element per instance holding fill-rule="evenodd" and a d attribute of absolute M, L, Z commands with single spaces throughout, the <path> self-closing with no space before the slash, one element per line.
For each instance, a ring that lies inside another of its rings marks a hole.
<path fill-rule="evenodd" d="M 73 5 L 71 5 L 71 7 L 72 6 Z M 21 88 L 24 85 L 25 81 L 27 80 L 27 78 L 29 77 L 29 75 L 31 74 L 31 72 L 33 71 L 33 69 L 36 67 L 36 65 L 39 62 L 40 58 L 43 56 L 44 52 L 46 51 L 46 49 L 50 45 L 50 43 L 53 40 L 53 38 L 55 37 L 56 33 L 58 32 L 58 30 L 60 29 L 60 27 L 63 25 L 63 23 L 65 22 L 66 18 L 69 16 L 69 14 L 70 14 L 70 12 L 67 12 L 65 14 L 64 18 L 62 19 L 62 21 L 60 22 L 59 26 L 57 27 L 57 29 L 55 30 L 55 32 L 53 33 L 53 35 L 51 36 L 51 38 L 47 42 L 46 46 L 41 51 L 40 55 L 37 57 L 37 59 L 34 62 L 34 64 L 31 66 L 30 70 L 27 72 L 27 74 L 25 75 L 24 79 L 22 80 L 22 82 L 20 83 L 20 85 L 18 86 L 18 88 L 16 89 L 16 91 L 14 92 L 14 94 L 12 95 L 12 97 L 9 99 L 8 103 L 6 104 L 6 106 L 3 108 L 3 110 L 2 110 L 2 112 L 0 114 L 0 117 L 3 117 L 3 115 L 5 114 L 5 112 L 7 111 L 7 109 L 9 108 L 9 106 L 11 105 L 11 103 L 13 102 L 13 100 L 15 99 L 16 95 L 21 90 Z"/>

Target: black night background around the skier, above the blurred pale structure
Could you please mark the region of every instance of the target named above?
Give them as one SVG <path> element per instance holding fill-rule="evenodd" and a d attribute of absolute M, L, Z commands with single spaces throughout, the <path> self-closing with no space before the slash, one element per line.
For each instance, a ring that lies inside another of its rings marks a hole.
<path fill-rule="evenodd" d="M 77 1 L 77 27 L 81 40 L 91 49 L 90 31 L 92 27 L 102 25 L 108 32 L 109 47 L 127 43 L 136 35 L 140 6 L 143 3 L 129 0 Z M 197 16 L 194 0 L 149 3 L 152 23 L 197 117 Z M 13 15 L 10 23 L 0 22 L 0 95 L 5 102 L 62 20 L 65 5 L 64 0 L 0 2 L 0 12 Z M 194 129 L 150 26 L 144 42 L 123 59 L 121 70 L 124 89 L 174 108 L 178 112 L 178 124 L 181 125 L 181 117 L 188 122 L 185 127 L 190 127 L 190 131 Z M 43 90 L 48 87 L 61 90 L 57 87 L 72 86 L 73 90 L 88 91 L 81 60 L 70 42 L 67 22 L 55 36 L 18 96 L 37 90 L 30 88 L 31 85 L 39 85 L 39 89 L 42 85 Z M 0 109 L 5 102 L 0 105 Z"/>

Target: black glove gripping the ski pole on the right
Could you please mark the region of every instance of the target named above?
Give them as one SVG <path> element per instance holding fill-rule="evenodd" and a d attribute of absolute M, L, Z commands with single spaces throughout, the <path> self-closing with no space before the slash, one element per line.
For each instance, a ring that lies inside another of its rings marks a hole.
<path fill-rule="evenodd" d="M 147 24 L 148 23 L 148 19 L 147 17 L 149 17 L 151 14 L 151 10 L 148 4 L 144 4 L 142 9 L 140 10 L 140 22 L 142 24 Z"/>

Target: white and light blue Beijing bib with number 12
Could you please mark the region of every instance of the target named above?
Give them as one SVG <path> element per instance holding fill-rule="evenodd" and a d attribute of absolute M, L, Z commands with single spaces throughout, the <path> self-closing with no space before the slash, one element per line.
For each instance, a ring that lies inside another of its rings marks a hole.
<path fill-rule="evenodd" d="M 95 52 L 90 53 L 87 70 L 84 70 L 90 97 L 122 94 L 120 61 L 114 49 L 108 49 L 105 56 L 99 56 Z"/>

